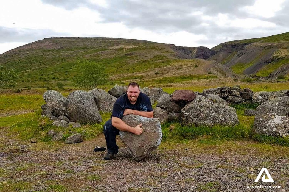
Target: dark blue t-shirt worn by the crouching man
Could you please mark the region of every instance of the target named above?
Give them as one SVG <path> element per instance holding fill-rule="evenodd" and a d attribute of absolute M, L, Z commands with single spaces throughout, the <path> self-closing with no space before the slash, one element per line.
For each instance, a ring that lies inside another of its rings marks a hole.
<path fill-rule="evenodd" d="M 145 94 L 140 92 L 138 98 L 136 99 L 136 103 L 133 105 L 130 103 L 128 99 L 128 94 L 125 93 L 116 99 L 114 103 L 114 108 L 112 109 L 111 117 L 118 117 L 122 119 L 123 112 L 125 109 L 133 109 L 138 111 L 153 111 L 152 104 L 150 102 L 150 98 Z"/>

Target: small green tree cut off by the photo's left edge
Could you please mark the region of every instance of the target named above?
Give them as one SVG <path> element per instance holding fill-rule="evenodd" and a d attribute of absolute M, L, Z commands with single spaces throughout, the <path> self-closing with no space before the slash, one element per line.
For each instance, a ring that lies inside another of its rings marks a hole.
<path fill-rule="evenodd" d="M 0 93 L 5 87 L 15 87 L 17 79 L 18 76 L 13 69 L 0 65 Z"/>

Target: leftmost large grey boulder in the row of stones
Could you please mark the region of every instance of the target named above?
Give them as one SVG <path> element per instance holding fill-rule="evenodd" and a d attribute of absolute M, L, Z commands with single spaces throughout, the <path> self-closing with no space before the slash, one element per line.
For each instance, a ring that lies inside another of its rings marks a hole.
<path fill-rule="evenodd" d="M 59 115 L 68 116 L 68 103 L 69 100 L 61 93 L 55 90 L 48 90 L 43 94 L 47 106 L 52 109 L 52 115 L 58 117 Z M 51 117 L 51 116 L 50 116 Z"/>

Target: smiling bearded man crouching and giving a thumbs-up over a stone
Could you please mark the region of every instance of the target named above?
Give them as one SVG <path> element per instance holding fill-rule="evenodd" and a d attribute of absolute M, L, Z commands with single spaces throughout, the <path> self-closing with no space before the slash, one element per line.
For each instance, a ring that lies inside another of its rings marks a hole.
<path fill-rule="evenodd" d="M 142 124 L 136 127 L 130 127 L 122 121 L 122 117 L 129 114 L 153 118 L 153 108 L 150 98 L 145 93 L 140 92 L 139 84 L 135 82 L 128 84 L 126 94 L 116 99 L 111 119 L 106 121 L 103 126 L 108 151 L 104 157 L 105 160 L 113 159 L 114 155 L 118 153 L 115 136 L 119 135 L 119 130 L 131 132 L 136 135 L 142 134 Z"/>

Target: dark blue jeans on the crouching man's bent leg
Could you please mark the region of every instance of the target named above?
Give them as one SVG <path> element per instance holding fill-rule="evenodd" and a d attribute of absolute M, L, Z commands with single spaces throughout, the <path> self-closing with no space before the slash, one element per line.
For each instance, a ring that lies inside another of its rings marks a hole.
<path fill-rule="evenodd" d="M 118 146 L 116 145 L 115 136 L 119 135 L 119 130 L 112 126 L 111 119 L 106 121 L 103 126 L 103 133 L 106 140 L 106 147 L 108 152 L 118 153 Z"/>

